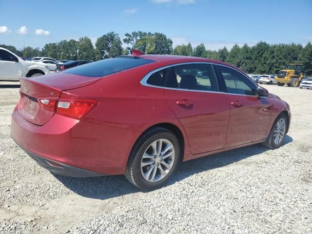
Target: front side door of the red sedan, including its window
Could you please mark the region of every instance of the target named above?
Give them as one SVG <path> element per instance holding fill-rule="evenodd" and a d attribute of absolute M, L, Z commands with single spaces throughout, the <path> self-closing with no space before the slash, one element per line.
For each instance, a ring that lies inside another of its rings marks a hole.
<path fill-rule="evenodd" d="M 267 98 L 258 97 L 254 82 L 239 71 L 221 65 L 215 65 L 215 71 L 231 108 L 225 148 L 264 139 L 271 120 Z"/>

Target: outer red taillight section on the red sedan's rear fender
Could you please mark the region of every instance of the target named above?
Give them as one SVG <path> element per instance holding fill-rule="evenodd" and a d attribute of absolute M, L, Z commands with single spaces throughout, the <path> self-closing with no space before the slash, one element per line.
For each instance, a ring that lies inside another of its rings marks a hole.
<path fill-rule="evenodd" d="M 97 105 L 98 101 L 91 99 L 59 99 L 56 105 L 56 113 L 70 118 L 81 119 Z"/>

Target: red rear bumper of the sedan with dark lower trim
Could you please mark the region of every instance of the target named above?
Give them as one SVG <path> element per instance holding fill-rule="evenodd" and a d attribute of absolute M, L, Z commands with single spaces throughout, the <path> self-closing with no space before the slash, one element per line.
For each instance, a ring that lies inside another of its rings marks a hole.
<path fill-rule="evenodd" d="M 41 166 L 59 175 L 124 174 L 137 134 L 57 114 L 39 126 L 21 117 L 17 108 L 11 118 L 11 136 L 17 144 Z"/>

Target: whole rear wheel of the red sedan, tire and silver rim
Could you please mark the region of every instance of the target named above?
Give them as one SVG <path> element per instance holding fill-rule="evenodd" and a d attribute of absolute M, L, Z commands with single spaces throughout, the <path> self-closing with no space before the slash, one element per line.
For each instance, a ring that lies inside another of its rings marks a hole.
<path fill-rule="evenodd" d="M 129 156 L 126 178 L 142 190 L 161 187 L 174 173 L 180 156 L 180 144 L 168 129 L 155 127 L 135 143 Z"/>

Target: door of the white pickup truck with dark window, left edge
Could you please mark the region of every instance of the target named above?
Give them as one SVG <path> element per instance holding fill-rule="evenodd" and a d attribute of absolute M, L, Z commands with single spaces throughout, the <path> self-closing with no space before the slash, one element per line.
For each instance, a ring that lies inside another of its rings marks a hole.
<path fill-rule="evenodd" d="M 11 58 L 15 58 L 13 61 Z M 0 78 L 19 80 L 23 73 L 23 65 L 10 52 L 0 49 Z"/>

